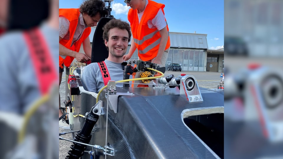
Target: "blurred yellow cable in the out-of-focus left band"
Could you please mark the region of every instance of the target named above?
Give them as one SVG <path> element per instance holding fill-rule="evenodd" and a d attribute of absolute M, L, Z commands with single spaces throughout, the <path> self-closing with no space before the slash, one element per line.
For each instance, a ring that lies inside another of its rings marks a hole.
<path fill-rule="evenodd" d="M 40 99 L 37 99 L 32 105 L 32 107 L 28 110 L 28 112 L 24 114 L 24 122 L 22 125 L 22 129 L 20 130 L 19 135 L 18 135 L 19 143 L 23 142 L 24 140 L 24 135 L 25 135 L 27 124 L 28 124 L 30 117 L 43 103 L 48 101 L 49 97 L 50 97 L 49 94 L 46 94 L 42 96 Z"/>

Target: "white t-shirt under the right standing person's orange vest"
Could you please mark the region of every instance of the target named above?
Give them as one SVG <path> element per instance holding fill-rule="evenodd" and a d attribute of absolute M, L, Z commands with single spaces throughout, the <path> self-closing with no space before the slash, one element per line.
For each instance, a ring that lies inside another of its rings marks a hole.
<path fill-rule="evenodd" d="M 148 4 L 148 1 L 145 4 L 145 8 L 147 7 L 147 4 Z M 142 17 L 143 14 L 144 14 L 144 11 L 141 12 L 141 13 L 138 13 L 139 22 L 141 21 L 141 17 Z M 161 30 L 164 27 L 166 27 L 167 24 L 166 24 L 166 21 L 165 21 L 165 16 L 164 16 L 161 9 L 159 9 L 156 16 L 152 20 L 149 20 L 147 22 L 147 25 L 150 29 L 157 28 L 158 30 Z"/>

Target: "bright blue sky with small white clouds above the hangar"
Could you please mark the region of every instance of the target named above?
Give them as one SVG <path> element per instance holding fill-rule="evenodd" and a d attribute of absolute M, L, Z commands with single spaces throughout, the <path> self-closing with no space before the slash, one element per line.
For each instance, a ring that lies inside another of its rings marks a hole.
<path fill-rule="evenodd" d="M 170 32 L 207 34 L 208 48 L 224 45 L 224 0 L 155 0 L 165 4 Z M 78 8 L 83 0 L 59 0 L 59 8 Z M 106 3 L 108 5 L 108 3 Z M 128 22 L 129 7 L 124 0 L 111 2 L 111 14 Z"/>

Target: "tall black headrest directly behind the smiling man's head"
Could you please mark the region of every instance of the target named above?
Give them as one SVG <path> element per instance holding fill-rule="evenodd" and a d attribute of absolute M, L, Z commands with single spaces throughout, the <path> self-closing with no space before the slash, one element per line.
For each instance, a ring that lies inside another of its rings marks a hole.
<path fill-rule="evenodd" d="M 102 17 L 97 23 L 91 49 L 91 63 L 101 62 L 108 58 L 108 50 L 103 41 L 103 26 L 113 17 Z"/>

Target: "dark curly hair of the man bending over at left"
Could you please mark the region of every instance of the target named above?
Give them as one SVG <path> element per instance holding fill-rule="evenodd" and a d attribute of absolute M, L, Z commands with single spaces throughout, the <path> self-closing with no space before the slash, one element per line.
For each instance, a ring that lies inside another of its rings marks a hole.
<path fill-rule="evenodd" d="M 80 12 L 88 14 L 90 17 L 94 17 L 98 13 L 101 17 L 105 17 L 108 12 L 104 10 L 104 7 L 105 3 L 101 0 L 85 0 L 80 5 Z"/>

